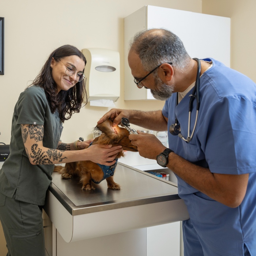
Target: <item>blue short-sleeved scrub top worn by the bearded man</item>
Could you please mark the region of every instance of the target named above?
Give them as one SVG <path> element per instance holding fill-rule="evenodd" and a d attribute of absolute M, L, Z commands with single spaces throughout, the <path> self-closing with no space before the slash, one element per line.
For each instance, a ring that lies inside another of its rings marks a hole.
<path fill-rule="evenodd" d="M 178 193 L 184 199 L 197 234 L 221 255 L 243 255 L 244 243 L 256 255 L 256 84 L 241 73 L 214 59 L 200 77 L 200 110 L 195 134 L 187 143 L 169 132 L 175 116 L 187 138 L 189 95 L 176 106 L 176 94 L 167 99 L 163 116 L 168 118 L 169 148 L 180 157 L 208 167 L 212 173 L 249 173 L 241 205 L 230 208 L 216 202 L 178 179 Z M 195 123 L 196 100 L 191 113 Z"/>

